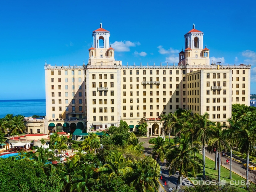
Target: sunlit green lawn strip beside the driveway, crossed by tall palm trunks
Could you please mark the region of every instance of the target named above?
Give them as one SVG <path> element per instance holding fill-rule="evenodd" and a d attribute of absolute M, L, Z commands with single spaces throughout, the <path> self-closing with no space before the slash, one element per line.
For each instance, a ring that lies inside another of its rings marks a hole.
<path fill-rule="evenodd" d="M 200 158 L 202 158 L 202 155 L 201 154 L 198 154 L 197 156 L 199 156 Z M 208 178 L 212 178 L 213 180 L 218 180 L 218 170 L 214 170 L 214 165 L 215 165 L 215 162 L 210 160 L 209 158 L 205 157 L 205 176 L 208 177 Z M 201 166 L 202 168 L 202 166 Z M 189 176 L 188 177 L 192 177 L 191 174 L 189 173 Z M 202 173 L 198 174 L 197 177 L 202 177 Z M 222 167 L 220 168 L 220 180 L 223 180 L 225 179 L 226 180 L 226 183 L 229 184 L 229 182 L 231 181 L 229 178 L 229 170 L 226 169 L 225 167 Z M 198 179 L 200 180 L 200 179 Z M 245 181 L 244 178 L 242 178 L 241 176 L 235 174 L 232 172 L 232 181 Z M 246 191 L 246 186 L 241 186 L 241 185 L 233 185 L 233 186 L 237 186 L 238 189 L 241 191 L 241 192 L 245 192 Z M 244 187 L 244 188 L 242 188 Z"/>

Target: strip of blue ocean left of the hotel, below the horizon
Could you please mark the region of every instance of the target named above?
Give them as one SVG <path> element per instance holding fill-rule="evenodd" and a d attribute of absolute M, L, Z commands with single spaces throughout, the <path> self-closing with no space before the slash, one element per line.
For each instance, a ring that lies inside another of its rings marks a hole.
<path fill-rule="evenodd" d="M 45 116 L 45 99 L 0 100 L 0 118 L 5 117 L 8 113 L 25 117 Z"/>

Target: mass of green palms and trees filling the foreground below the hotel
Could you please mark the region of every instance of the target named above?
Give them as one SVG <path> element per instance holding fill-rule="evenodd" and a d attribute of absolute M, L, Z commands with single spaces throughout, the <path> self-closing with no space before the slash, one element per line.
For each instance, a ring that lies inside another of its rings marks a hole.
<path fill-rule="evenodd" d="M 255 155 L 256 145 L 256 108 L 232 105 L 232 117 L 224 125 L 209 121 L 207 113 L 192 115 L 191 110 L 179 109 L 161 118 L 168 136 L 150 139 L 150 156 L 143 154 L 144 142 L 129 132 L 129 126 L 124 121 L 120 121 L 119 127 L 111 126 L 102 139 L 96 134 L 89 134 L 84 141 L 77 142 L 53 134 L 51 149 L 36 147 L 35 152 L 21 151 L 16 157 L 0 158 L 0 189 L 156 192 L 160 186 L 159 163 L 165 162 L 169 174 L 178 175 L 176 190 L 237 191 L 236 188 L 220 185 L 221 154 L 224 151 L 232 155 L 234 147 L 246 156 L 246 181 L 249 180 L 249 155 Z M 139 129 L 142 135 L 145 134 L 145 127 L 146 124 Z M 60 161 L 53 150 L 65 150 L 69 143 L 75 154 L 63 163 L 53 163 Z M 205 151 L 215 154 L 217 178 L 206 178 Z M 232 179 L 232 159 L 229 166 L 229 179 Z M 28 175 L 23 177 L 23 174 Z M 202 175 L 202 180 L 217 180 L 219 185 L 179 189 L 180 178 L 196 177 L 198 174 Z M 253 185 L 246 188 L 255 191 Z"/>

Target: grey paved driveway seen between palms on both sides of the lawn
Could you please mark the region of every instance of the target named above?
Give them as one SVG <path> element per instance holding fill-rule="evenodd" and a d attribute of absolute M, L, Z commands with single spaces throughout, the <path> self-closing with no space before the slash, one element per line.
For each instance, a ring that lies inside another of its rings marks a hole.
<path fill-rule="evenodd" d="M 151 144 L 148 143 L 148 141 L 151 138 L 140 138 L 140 142 L 145 142 L 143 144 L 143 146 L 145 147 L 145 152 L 144 152 L 145 155 L 151 155 L 152 148 L 149 147 Z M 205 156 L 208 157 L 209 159 L 215 161 L 215 153 L 211 154 L 211 153 L 205 151 Z M 227 157 L 227 156 L 222 156 L 221 157 L 222 166 L 226 167 L 227 169 L 229 169 L 229 165 L 226 164 L 226 159 L 230 159 L 230 158 Z M 162 174 L 161 174 L 162 179 L 160 178 L 159 182 L 162 184 L 162 186 L 166 182 L 166 184 L 167 184 L 167 186 L 165 186 L 165 190 L 166 191 L 168 191 L 168 188 L 170 188 L 170 187 L 175 190 L 176 189 L 177 180 L 178 180 L 179 171 L 177 171 L 176 174 L 171 175 L 169 177 L 169 170 L 165 166 L 166 165 L 166 160 L 163 163 L 159 161 L 159 164 L 161 166 L 161 171 L 162 171 Z M 236 161 L 236 160 L 234 160 L 234 159 L 232 159 L 232 171 L 235 172 L 236 174 L 240 175 L 240 176 L 243 176 L 242 174 L 244 174 L 243 177 L 245 177 L 246 170 L 244 169 L 243 164 L 238 162 L 238 161 Z M 251 174 L 249 173 L 249 179 L 250 179 L 250 177 L 251 177 Z M 190 184 L 190 182 L 187 179 L 184 179 L 184 182 L 183 182 L 182 185 L 188 186 L 188 185 L 191 185 L 191 184 Z M 162 186 L 159 187 L 159 192 L 163 192 L 164 191 Z"/>

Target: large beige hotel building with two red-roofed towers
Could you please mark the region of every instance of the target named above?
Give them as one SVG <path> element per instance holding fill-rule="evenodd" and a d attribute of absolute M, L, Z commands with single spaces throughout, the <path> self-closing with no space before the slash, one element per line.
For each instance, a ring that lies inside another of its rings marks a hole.
<path fill-rule="evenodd" d="M 102 25 L 93 32 L 87 65 L 45 64 L 46 132 L 57 131 L 49 128 L 51 123 L 67 123 L 69 130 L 82 123 L 88 133 L 118 126 L 123 120 L 131 131 L 147 122 L 147 135 L 160 135 L 159 116 L 178 108 L 191 109 L 192 114 L 207 112 L 209 120 L 225 123 L 231 117 L 231 104 L 250 104 L 251 66 L 210 64 L 203 33 L 194 26 L 185 35 L 178 65 L 124 66 L 114 59 L 109 36 Z"/>

